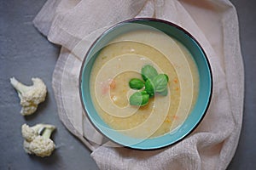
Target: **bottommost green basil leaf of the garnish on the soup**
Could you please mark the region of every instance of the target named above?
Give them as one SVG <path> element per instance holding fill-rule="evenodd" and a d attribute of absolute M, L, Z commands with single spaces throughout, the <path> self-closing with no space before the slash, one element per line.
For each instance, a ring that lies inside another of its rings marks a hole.
<path fill-rule="evenodd" d="M 142 91 L 142 92 L 136 92 L 131 95 L 129 101 L 130 105 L 147 105 L 148 104 L 148 99 L 149 99 L 149 94 L 147 92 Z"/>

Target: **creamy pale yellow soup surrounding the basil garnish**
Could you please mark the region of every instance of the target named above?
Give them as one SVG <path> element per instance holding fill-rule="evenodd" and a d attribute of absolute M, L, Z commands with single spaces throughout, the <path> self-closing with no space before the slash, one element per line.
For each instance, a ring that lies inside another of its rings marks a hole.
<path fill-rule="evenodd" d="M 168 94 L 155 94 L 148 105 L 129 104 L 131 78 L 144 65 L 169 77 Z M 189 115 L 198 93 L 195 61 L 183 45 L 160 31 L 131 31 L 102 48 L 92 67 L 90 93 L 96 111 L 109 127 L 135 138 L 172 133 Z"/>

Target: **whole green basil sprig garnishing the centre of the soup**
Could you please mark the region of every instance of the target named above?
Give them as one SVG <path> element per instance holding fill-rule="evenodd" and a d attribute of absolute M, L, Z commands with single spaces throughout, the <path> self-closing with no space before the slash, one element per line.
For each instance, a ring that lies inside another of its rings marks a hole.
<path fill-rule="evenodd" d="M 168 94 L 169 77 L 166 74 L 158 74 L 152 65 L 144 65 L 141 74 L 145 83 L 138 78 L 132 78 L 129 82 L 132 89 L 139 90 L 145 87 L 143 91 L 131 95 L 130 105 L 144 106 L 148 104 L 149 97 L 153 97 L 155 93 L 162 96 Z"/>

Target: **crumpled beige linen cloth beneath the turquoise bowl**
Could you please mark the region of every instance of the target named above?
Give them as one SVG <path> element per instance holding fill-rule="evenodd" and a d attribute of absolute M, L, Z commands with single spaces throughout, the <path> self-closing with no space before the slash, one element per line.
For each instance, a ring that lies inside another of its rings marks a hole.
<path fill-rule="evenodd" d="M 169 20 L 189 31 L 212 65 L 207 116 L 187 138 L 161 150 L 111 147 L 91 126 L 79 99 L 84 54 L 102 31 L 135 17 Z M 34 25 L 61 45 L 53 88 L 61 121 L 92 151 L 101 169 L 225 169 L 239 140 L 244 97 L 236 8 L 227 0 L 49 0 Z M 83 161 L 83 158 L 78 161 Z"/>

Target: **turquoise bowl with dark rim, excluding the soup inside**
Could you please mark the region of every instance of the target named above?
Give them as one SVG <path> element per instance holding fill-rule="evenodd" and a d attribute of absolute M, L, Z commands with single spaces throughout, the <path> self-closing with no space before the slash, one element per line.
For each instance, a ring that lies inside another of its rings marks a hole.
<path fill-rule="evenodd" d="M 125 136 L 124 134 L 113 130 L 102 121 L 102 118 L 97 114 L 90 97 L 90 71 L 97 54 L 108 44 L 108 42 L 113 40 L 113 38 L 118 37 L 120 34 L 124 34 L 127 31 L 142 29 L 144 26 L 150 26 L 156 30 L 166 33 L 166 35 L 177 39 L 177 41 L 183 43 L 183 45 L 189 49 L 190 54 L 192 54 L 195 59 L 195 63 L 199 71 L 200 88 L 193 110 L 189 113 L 185 122 L 183 122 L 175 132 L 166 133 L 165 135 L 156 138 L 142 140 Z M 91 45 L 80 70 L 79 94 L 84 112 L 87 114 L 90 122 L 108 139 L 132 149 L 160 149 L 184 139 L 200 124 L 201 120 L 207 113 L 207 109 L 212 98 L 212 71 L 207 55 L 203 48 L 201 48 L 200 43 L 182 27 L 166 20 L 151 18 L 125 20 L 103 32 L 102 35 Z"/>

